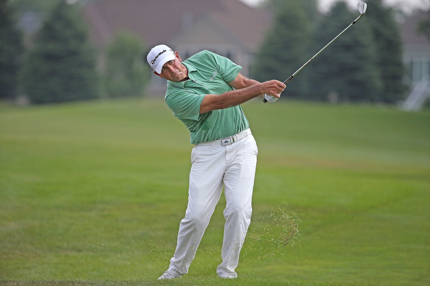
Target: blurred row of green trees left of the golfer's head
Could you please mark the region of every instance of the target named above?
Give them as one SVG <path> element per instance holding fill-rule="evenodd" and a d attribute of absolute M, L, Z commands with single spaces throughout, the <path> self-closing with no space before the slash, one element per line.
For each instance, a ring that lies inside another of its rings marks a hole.
<path fill-rule="evenodd" d="M 97 68 L 79 6 L 53 2 L 52 7 L 46 1 L 39 6 L 32 0 L 0 2 L 0 99 L 25 94 L 37 104 L 141 95 L 149 80 L 142 41 L 117 33 L 103 51 L 104 67 Z M 49 11 L 27 45 L 16 25 L 14 9 L 20 5 Z"/>

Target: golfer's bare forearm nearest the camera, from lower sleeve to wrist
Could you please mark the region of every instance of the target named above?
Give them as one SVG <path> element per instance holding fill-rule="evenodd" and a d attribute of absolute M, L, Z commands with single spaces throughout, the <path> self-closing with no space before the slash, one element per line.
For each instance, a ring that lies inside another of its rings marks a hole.
<path fill-rule="evenodd" d="M 251 85 L 233 91 L 227 91 L 223 94 L 207 94 L 200 105 L 200 114 L 212 110 L 224 109 L 242 104 L 254 97 L 261 96 L 264 87 L 261 83 Z"/>

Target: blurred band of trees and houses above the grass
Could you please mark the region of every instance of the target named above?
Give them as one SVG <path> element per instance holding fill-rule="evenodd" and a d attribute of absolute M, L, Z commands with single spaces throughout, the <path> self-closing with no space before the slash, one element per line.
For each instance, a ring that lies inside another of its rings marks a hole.
<path fill-rule="evenodd" d="M 358 17 L 356 2 L 3 0 L 0 98 L 26 105 L 160 97 L 166 82 L 150 75 L 146 55 L 161 43 L 182 59 L 208 49 L 245 76 L 283 81 Z M 371 0 L 365 18 L 283 97 L 420 110 L 429 74 L 430 1 Z"/>

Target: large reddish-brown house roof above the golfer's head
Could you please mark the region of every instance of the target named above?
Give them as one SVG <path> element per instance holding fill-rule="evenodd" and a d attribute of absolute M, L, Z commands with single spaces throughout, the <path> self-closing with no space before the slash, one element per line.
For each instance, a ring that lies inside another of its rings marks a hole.
<path fill-rule="evenodd" d="M 239 0 L 92 0 L 83 6 L 83 13 L 98 48 L 122 30 L 135 33 L 147 46 L 169 43 L 185 28 L 210 17 L 254 50 L 271 22 L 268 10 Z"/>

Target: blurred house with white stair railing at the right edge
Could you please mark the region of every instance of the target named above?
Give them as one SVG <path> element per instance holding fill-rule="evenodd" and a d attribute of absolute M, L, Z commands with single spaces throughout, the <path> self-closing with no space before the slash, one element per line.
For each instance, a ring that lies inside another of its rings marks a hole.
<path fill-rule="evenodd" d="M 418 32 L 418 23 L 430 18 L 429 11 L 417 11 L 401 23 L 403 62 L 408 70 L 405 83 L 410 94 L 402 105 L 404 110 L 419 110 L 430 98 L 430 40 Z"/>

